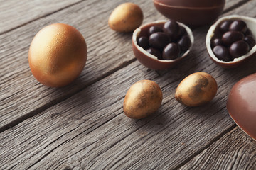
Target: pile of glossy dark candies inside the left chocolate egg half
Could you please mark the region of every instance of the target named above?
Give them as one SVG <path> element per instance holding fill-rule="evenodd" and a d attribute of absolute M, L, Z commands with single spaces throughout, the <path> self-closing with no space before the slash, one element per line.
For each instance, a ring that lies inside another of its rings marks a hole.
<path fill-rule="evenodd" d="M 186 29 L 179 26 L 176 21 L 166 21 L 162 27 L 149 27 L 147 36 L 149 38 L 137 38 L 137 44 L 159 60 L 174 60 L 181 57 L 181 54 L 191 46 Z"/>

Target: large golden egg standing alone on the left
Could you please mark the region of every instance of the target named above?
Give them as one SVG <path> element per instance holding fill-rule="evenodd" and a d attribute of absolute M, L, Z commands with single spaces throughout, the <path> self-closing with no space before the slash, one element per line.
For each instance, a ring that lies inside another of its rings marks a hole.
<path fill-rule="evenodd" d="M 28 52 L 33 76 L 46 86 L 60 87 L 74 81 L 87 60 L 85 38 L 64 23 L 41 29 L 31 42 Z"/>

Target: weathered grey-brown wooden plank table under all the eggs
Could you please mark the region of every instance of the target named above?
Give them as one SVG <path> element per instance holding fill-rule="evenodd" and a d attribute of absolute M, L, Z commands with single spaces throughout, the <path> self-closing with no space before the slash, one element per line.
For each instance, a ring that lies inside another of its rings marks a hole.
<path fill-rule="evenodd" d="M 169 70 L 147 69 L 134 57 L 132 33 L 107 25 L 123 2 L 0 1 L 0 169 L 256 169 L 256 142 L 225 107 L 235 82 L 256 72 L 256 60 L 235 69 L 217 66 L 206 52 L 210 26 L 203 26 L 193 30 L 186 60 Z M 132 2 L 144 11 L 143 23 L 164 19 L 152 1 Z M 255 6 L 255 0 L 227 0 L 223 16 L 256 17 Z M 78 28 L 87 42 L 85 68 L 63 88 L 38 83 L 28 66 L 33 36 L 50 23 Z M 174 98 L 193 72 L 218 82 L 213 101 L 196 108 Z M 141 79 L 156 81 L 164 98 L 159 111 L 132 120 L 122 104 Z"/>

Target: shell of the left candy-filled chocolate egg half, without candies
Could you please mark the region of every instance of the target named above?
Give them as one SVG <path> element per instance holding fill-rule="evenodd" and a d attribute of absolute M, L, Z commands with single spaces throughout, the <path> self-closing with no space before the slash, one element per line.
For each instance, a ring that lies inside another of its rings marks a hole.
<path fill-rule="evenodd" d="M 178 62 L 183 60 L 186 55 L 188 55 L 188 52 L 191 51 L 191 47 L 193 46 L 193 33 L 188 26 L 185 26 L 183 23 L 178 23 L 180 26 L 183 26 L 183 28 L 186 29 L 186 32 L 188 33 L 189 38 L 191 39 L 191 47 L 180 57 L 176 58 L 175 60 L 159 60 L 154 55 L 151 55 L 149 52 L 146 52 L 142 47 L 139 47 L 137 45 L 137 38 L 140 36 L 146 36 L 148 37 L 148 30 L 151 26 L 164 26 L 164 23 L 166 23 L 165 20 L 163 21 L 155 21 L 152 23 L 146 23 L 144 26 L 140 26 L 136 30 L 134 30 L 134 33 L 132 35 L 132 50 L 134 52 L 135 57 L 137 57 L 137 60 L 141 62 L 144 66 L 148 67 L 149 69 L 169 69 L 171 67 L 174 67 Z"/>

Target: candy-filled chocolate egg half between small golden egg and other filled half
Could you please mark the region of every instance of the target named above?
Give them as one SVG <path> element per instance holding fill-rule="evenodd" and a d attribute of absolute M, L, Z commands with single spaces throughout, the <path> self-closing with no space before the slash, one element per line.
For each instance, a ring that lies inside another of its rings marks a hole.
<path fill-rule="evenodd" d="M 191 51 L 194 42 L 191 29 L 183 23 L 171 21 L 178 25 L 177 39 L 172 39 L 173 30 L 165 27 L 165 25 L 173 25 L 169 23 L 170 21 L 166 20 L 146 23 L 132 34 L 134 55 L 149 69 L 170 69 Z"/>

